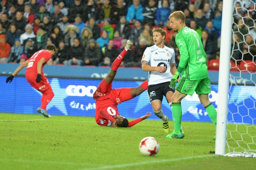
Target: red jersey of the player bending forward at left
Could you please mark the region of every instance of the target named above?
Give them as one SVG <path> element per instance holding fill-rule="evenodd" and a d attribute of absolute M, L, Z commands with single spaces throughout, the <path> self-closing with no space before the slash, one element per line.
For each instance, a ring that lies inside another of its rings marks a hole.
<path fill-rule="evenodd" d="M 51 57 L 52 54 L 45 49 L 37 51 L 34 55 L 30 57 L 26 72 L 37 72 L 37 63 L 40 61 L 41 58 L 44 58 L 45 62 L 43 63 L 41 70 L 41 75 L 44 75 L 43 67 Z"/>

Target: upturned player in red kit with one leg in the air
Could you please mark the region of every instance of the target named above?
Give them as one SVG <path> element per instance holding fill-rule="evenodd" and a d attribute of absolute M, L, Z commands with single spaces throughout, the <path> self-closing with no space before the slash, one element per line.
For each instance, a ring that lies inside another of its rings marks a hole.
<path fill-rule="evenodd" d="M 128 122 L 117 110 L 118 104 L 130 100 L 148 89 L 148 80 L 144 81 L 139 87 L 112 89 L 116 71 L 131 47 L 132 42 L 128 40 L 123 52 L 112 63 L 108 75 L 100 82 L 93 94 L 93 99 L 96 100 L 95 120 L 100 126 L 131 127 L 151 115 L 151 113 L 147 113 L 136 120 Z"/>

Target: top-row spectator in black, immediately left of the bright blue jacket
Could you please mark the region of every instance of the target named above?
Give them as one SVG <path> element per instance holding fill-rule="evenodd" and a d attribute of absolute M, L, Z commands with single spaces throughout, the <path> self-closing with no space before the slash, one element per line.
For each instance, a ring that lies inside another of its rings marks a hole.
<path fill-rule="evenodd" d="M 126 15 L 126 13 L 127 8 L 124 6 L 124 0 L 117 0 L 117 5 L 111 8 L 109 16 L 111 24 L 119 24 L 120 16 Z"/>

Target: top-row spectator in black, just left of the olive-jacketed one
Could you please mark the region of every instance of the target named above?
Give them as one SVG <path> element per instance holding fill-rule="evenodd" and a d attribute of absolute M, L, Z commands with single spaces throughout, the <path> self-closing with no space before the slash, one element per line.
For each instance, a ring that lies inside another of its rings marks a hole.
<path fill-rule="evenodd" d="M 98 24 L 103 20 L 103 17 L 103 10 L 98 8 L 97 4 L 95 4 L 93 0 L 88 0 L 84 14 L 84 21 L 87 21 L 88 18 L 94 18 L 96 24 Z"/>

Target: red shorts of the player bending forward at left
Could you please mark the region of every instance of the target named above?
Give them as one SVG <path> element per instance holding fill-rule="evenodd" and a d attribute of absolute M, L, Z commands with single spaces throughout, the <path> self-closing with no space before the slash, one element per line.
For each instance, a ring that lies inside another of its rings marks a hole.
<path fill-rule="evenodd" d="M 26 72 L 26 79 L 27 79 L 28 83 L 33 88 L 35 88 L 36 90 L 38 90 L 41 93 L 44 93 L 48 89 L 49 90 L 51 89 L 51 91 L 52 91 L 52 87 L 51 87 L 48 79 L 44 75 L 41 75 L 41 82 L 40 83 L 36 83 L 36 76 L 37 76 L 37 73 Z"/>

